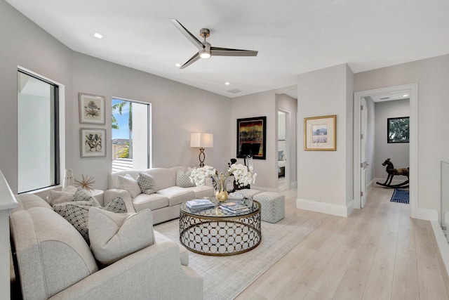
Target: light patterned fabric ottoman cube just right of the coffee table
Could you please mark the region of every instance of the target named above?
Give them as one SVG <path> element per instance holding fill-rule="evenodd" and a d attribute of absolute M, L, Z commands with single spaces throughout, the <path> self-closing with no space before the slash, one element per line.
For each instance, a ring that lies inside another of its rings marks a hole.
<path fill-rule="evenodd" d="M 273 192 L 262 192 L 254 195 L 253 199 L 262 205 L 262 221 L 277 223 L 286 217 L 286 199 L 284 195 Z"/>

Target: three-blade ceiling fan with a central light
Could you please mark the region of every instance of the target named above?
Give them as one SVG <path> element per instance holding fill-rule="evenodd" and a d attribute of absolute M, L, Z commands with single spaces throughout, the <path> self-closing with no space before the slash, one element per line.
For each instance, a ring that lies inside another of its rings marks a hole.
<path fill-rule="evenodd" d="M 198 48 L 198 53 L 187 60 L 187 63 L 180 66 L 180 69 L 184 69 L 185 67 L 192 65 L 192 63 L 199 60 L 199 58 L 210 58 L 210 56 L 257 56 L 257 51 L 210 46 L 210 44 L 206 41 L 206 38 L 210 36 L 210 31 L 207 28 L 201 28 L 199 31 L 199 35 L 204 39 L 204 41 L 199 41 L 199 39 L 196 39 L 196 37 L 194 37 L 189 30 L 182 26 L 178 20 L 170 19 L 170 21 L 173 22 L 173 25 L 175 25 L 176 28 L 196 46 L 196 48 Z"/>

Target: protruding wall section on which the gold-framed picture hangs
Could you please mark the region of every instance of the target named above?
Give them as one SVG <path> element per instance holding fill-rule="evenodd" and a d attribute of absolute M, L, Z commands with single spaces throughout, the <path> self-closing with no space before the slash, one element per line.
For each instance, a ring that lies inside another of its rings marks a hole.
<path fill-rule="evenodd" d="M 297 207 L 347 214 L 352 197 L 352 73 L 337 65 L 298 76 Z M 304 118 L 337 115 L 337 150 L 304 151 Z"/>

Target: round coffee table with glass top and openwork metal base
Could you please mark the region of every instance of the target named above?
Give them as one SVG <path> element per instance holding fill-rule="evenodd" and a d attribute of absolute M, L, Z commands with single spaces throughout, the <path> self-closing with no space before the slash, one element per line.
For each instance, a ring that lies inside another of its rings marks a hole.
<path fill-rule="evenodd" d="M 181 204 L 181 244 L 192 252 L 214 256 L 241 254 L 260 244 L 259 202 L 246 199 L 245 204 L 250 210 L 234 214 L 222 211 L 215 198 L 208 199 L 215 204 L 214 208 L 192 211 L 186 202 Z"/>

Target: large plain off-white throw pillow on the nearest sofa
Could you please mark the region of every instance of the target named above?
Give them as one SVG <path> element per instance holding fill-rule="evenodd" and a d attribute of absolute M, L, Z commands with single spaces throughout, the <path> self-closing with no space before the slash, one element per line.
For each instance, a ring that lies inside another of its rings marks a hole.
<path fill-rule="evenodd" d="M 104 265 L 114 263 L 154 243 L 152 211 L 114 214 L 92 207 L 89 235 L 95 259 Z"/>

